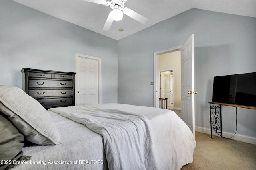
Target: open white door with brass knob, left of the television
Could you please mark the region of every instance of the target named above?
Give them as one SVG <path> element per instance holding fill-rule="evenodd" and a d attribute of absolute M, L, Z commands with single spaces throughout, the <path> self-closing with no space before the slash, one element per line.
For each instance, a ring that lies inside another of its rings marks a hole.
<path fill-rule="evenodd" d="M 181 117 L 195 136 L 194 34 L 181 47 Z"/>

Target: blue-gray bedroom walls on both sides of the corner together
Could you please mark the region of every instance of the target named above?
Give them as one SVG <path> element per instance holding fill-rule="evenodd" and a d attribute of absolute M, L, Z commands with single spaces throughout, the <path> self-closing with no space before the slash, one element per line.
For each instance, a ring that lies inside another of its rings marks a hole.
<path fill-rule="evenodd" d="M 0 84 L 22 88 L 22 67 L 74 72 L 75 53 L 82 53 L 102 58 L 102 103 L 153 107 L 153 53 L 194 33 L 196 126 L 209 128 L 213 76 L 256 72 L 255 28 L 256 18 L 191 9 L 115 41 L 0 0 Z M 223 121 L 233 133 L 234 107 L 224 107 Z M 256 137 L 255 121 L 255 110 L 238 108 L 237 133 Z"/>

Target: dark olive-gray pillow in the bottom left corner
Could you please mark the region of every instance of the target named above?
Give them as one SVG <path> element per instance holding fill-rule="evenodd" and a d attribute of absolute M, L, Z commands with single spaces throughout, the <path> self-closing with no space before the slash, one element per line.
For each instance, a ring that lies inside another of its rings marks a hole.
<path fill-rule="evenodd" d="M 0 115 L 0 170 L 22 156 L 24 136 L 5 117 Z"/>

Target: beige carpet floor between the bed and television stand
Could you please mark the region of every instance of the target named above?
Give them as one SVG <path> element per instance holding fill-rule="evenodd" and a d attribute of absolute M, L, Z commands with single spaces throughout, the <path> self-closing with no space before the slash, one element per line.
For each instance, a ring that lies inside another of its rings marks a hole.
<path fill-rule="evenodd" d="M 256 170 L 256 145 L 196 132 L 193 158 L 181 170 Z"/>

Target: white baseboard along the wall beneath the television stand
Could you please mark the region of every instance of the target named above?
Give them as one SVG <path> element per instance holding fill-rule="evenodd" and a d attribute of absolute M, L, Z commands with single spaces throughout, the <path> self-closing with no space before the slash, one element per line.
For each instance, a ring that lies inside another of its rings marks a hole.
<path fill-rule="evenodd" d="M 209 128 L 196 126 L 196 127 L 195 127 L 195 130 L 196 130 L 197 132 L 206 133 L 206 134 L 211 134 L 211 129 L 209 129 Z M 220 136 L 219 136 L 218 134 L 216 134 L 216 133 L 213 133 L 212 135 L 220 137 Z M 229 138 L 229 137 L 232 137 L 233 135 L 234 135 L 234 134 L 229 133 L 229 132 L 222 132 L 222 136 L 223 136 L 223 137 Z M 233 139 L 233 140 L 236 140 L 236 141 L 241 141 L 241 142 L 246 142 L 246 143 L 251 143 L 251 144 L 256 145 L 256 138 L 255 138 L 255 137 L 250 137 L 250 136 L 245 136 L 245 135 L 236 134 L 234 137 L 232 137 L 232 139 Z"/>

